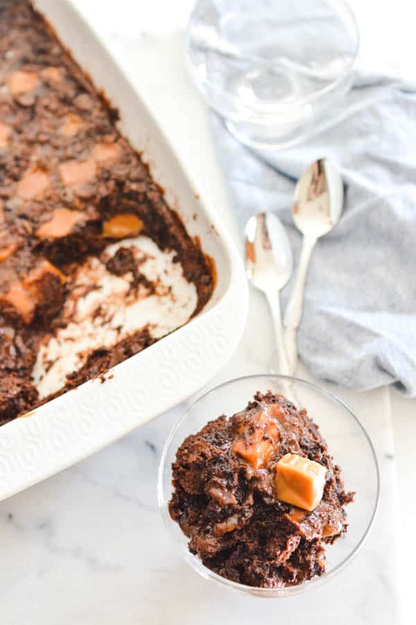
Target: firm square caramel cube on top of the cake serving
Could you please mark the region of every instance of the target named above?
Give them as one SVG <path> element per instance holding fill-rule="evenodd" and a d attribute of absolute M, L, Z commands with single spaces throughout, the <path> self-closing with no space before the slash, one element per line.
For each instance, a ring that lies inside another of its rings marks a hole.
<path fill-rule="evenodd" d="M 327 469 L 308 458 L 286 453 L 275 465 L 277 498 L 303 510 L 314 510 L 322 499 Z"/>

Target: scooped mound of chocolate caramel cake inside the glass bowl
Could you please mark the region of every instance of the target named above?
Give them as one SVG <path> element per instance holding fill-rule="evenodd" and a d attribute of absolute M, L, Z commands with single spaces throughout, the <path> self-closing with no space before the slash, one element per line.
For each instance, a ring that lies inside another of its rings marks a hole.
<path fill-rule="evenodd" d="M 284 587 L 324 573 L 353 499 L 306 410 L 267 392 L 184 440 L 169 512 L 212 571 Z"/>

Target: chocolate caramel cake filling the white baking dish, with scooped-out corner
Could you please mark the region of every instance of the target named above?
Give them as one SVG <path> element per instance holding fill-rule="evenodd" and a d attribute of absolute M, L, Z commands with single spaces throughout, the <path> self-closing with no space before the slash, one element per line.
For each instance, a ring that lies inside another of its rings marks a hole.
<path fill-rule="evenodd" d="M 211 265 L 117 112 L 30 3 L 0 0 L 0 424 L 198 313 Z"/>

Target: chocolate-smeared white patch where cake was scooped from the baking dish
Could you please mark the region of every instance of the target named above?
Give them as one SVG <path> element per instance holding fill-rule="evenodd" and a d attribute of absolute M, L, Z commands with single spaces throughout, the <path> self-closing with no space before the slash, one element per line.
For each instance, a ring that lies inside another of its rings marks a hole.
<path fill-rule="evenodd" d="M 122 247 L 132 251 L 141 281 L 132 271 L 119 276 L 107 269 Z M 37 353 L 32 378 L 40 399 L 60 390 L 96 349 L 114 347 L 146 326 L 153 338 L 161 338 L 189 320 L 198 295 L 174 257 L 174 251 L 139 236 L 80 265 L 64 304 L 66 325 L 46 336 Z"/>

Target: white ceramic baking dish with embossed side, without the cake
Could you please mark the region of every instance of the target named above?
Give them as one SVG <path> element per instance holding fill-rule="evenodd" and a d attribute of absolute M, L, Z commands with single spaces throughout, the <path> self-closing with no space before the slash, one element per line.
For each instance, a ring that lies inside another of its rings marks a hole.
<path fill-rule="evenodd" d="M 89 381 L 1 426 L 0 499 L 89 456 L 200 389 L 236 348 L 248 301 L 243 266 L 227 232 L 110 53 L 70 1 L 37 0 L 35 6 L 119 109 L 121 132 L 143 151 L 168 203 L 214 258 L 218 281 L 197 317 L 114 367 L 105 383 Z"/>

